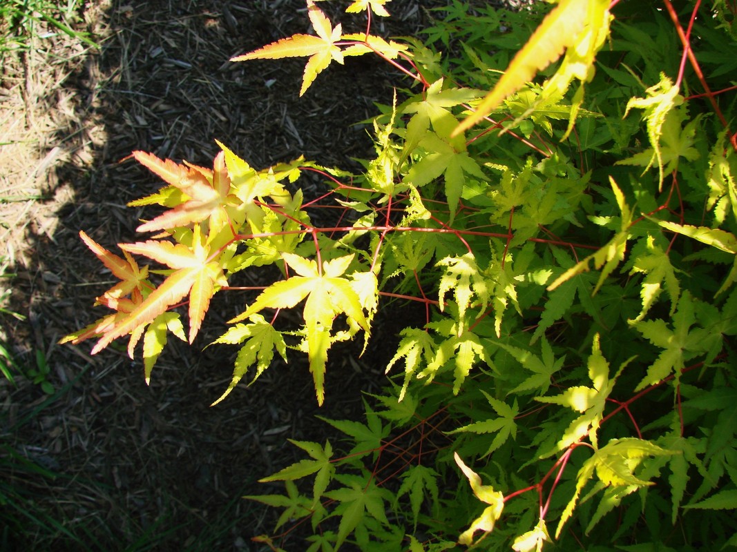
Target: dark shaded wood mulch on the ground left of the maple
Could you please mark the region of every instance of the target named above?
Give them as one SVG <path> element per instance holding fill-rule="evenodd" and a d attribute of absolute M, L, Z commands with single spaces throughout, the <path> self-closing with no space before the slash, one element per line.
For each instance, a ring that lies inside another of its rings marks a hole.
<path fill-rule="evenodd" d="M 447 2 L 393 4 L 396 17 L 385 29 L 375 22 L 374 32 L 412 34 L 427 24 L 430 4 Z M 338 20 L 349 29 L 349 21 L 355 30 L 362 25 L 360 18 Z M 53 233 L 28 228 L 31 262 L 18 267 L 10 305 L 27 322 L 3 321 L 19 361 L 32 365 L 43 352 L 58 390 L 49 398 L 38 386 L 4 386 L 3 434 L 13 433 L 15 453 L 54 475 L 17 472 L 8 481 L 24 487 L 31 511 L 46 512 L 63 531 L 34 540 L 54 531 L 35 531 L 25 520 L 22 531 L 6 528 L 8 549 L 80 550 L 84 543 L 91 550 L 262 550 L 251 537 L 270 532 L 276 512 L 240 496 L 281 492 L 257 480 L 301 458 L 287 438 L 335 440 L 315 420 L 312 378 L 295 352 L 288 367 L 275 362 L 253 386 L 242 384 L 209 406 L 230 381 L 236 350 L 203 347 L 252 296 L 216 296 L 210 333 L 192 348 L 170 343 L 150 386 L 124 346 L 94 357 L 86 343 L 55 346 L 102 316 L 92 305 L 111 279 L 79 231 L 116 251 L 116 243 L 140 239 L 137 219 L 153 212 L 125 207 L 161 187 L 124 160 L 133 150 L 207 166 L 217 138 L 258 168 L 301 154 L 342 168 L 354 167 L 352 157 L 371 157 L 360 121 L 377 113 L 374 102 L 391 103 L 392 86 L 406 84 L 380 61 L 331 66 L 301 99 L 304 60 L 228 62 L 308 28 L 303 0 L 113 0 L 105 7 L 94 29 L 102 49 L 62 84 L 75 117 L 56 140 L 74 144 L 75 155 L 57 167 L 47 195 L 59 197 L 56 188 L 64 187 L 69 199 L 49 203 L 59 221 Z M 322 189 L 315 181 L 298 185 L 307 194 Z M 245 277 L 258 286 L 272 275 Z M 398 330 L 380 325 L 363 358 L 349 347 L 332 350 L 319 414 L 361 415 L 361 392 L 377 392 L 385 381 Z M 298 539 L 282 546 L 302 549 Z"/>

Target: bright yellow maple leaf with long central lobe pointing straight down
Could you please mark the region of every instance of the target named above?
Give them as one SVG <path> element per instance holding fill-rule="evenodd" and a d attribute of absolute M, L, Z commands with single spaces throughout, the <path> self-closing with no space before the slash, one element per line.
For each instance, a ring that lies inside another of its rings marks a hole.
<path fill-rule="evenodd" d="M 325 365 L 327 351 L 332 345 L 331 330 L 335 316 L 345 314 L 349 325 L 354 324 L 366 332 L 370 331 L 368 320 L 363 314 L 364 305 L 360 294 L 348 279 L 341 277 L 354 256 L 351 254 L 324 261 L 321 270 L 318 270 L 315 261 L 292 253 L 282 253 L 284 262 L 297 275 L 273 283 L 256 297 L 250 307 L 230 321 L 239 322 L 264 308 L 292 308 L 307 298 L 303 311 L 303 347 L 310 359 L 310 372 L 315 381 L 315 393 L 320 405 L 325 399 Z"/>

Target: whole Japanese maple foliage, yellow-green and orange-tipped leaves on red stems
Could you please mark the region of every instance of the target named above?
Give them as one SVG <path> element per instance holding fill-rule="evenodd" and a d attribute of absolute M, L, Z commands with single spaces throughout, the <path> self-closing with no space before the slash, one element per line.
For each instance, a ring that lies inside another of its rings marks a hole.
<path fill-rule="evenodd" d="M 365 347 L 380 308 L 424 305 L 365 418 L 326 420 L 346 453 L 295 441 L 309 459 L 263 480 L 285 493 L 249 497 L 284 509 L 282 536 L 309 519 L 309 551 L 737 545 L 729 8 L 554 4 L 453 0 L 424 40 L 399 41 L 371 34 L 388 0 L 353 1 L 367 26 L 352 35 L 307 0 L 315 34 L 234 60 L 306 57 L 301 93 L 346 57 L 399 68 L 365 170 L 136 152 L 167 184 L 133 202 L 164 208 L 139 227 L 153 236 L 120 257 L 82 234 L 120 283 L 97 300 L 112 314 L 66 340 L 97 353 L 129 335 L 133 355 L 143 337 L 146 378 L 237 273 L 279 268 L 215 340 L 240 347 L 216 403 L 288 348 L 323 403 L 335 342 Z M 329 191 L 303 205 L 305 171 Z M 352 222 L 313 224 L 331 201 Z"/>

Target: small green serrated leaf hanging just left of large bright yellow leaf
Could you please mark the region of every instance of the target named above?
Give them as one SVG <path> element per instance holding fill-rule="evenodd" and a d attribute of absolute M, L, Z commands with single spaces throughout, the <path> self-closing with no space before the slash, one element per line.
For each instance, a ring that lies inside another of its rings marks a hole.
<path fill-rule="evenodd" d="M 238 351 L 235 359 L 233 378 L 228 385 L 228 389 L 210 406 L 215 406 L 225 399 L 243 378 L 248 368 L 255 363 L 256 374 L 251 380 L 251 383 L 254 383 L 259 375 L 271 364 L 274 347 L 276 347 L 276 351 L 284 361 L 287 361 L 287 344 L 284 343 L 282 334 L 274 330 L 273 326 L 260 314 L 253 314 L 248 317 L 248 320 L 250 322 L 249 324 L 237 324 L 213 342 L 240 344 L 248 340 Z"/>

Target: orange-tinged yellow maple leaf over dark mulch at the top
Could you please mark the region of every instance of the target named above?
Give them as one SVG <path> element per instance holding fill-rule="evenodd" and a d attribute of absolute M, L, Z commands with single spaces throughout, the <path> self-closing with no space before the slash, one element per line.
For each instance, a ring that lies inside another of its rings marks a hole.
<path fill-rule="evenodd" d="M 282 57 L 309 56 L 310 59 L 307 60 L 307 65 L 304 67 L 302 88 L 299 91 L 299 95 L 302 96 L 332 60 L 343 63 L 343 52 L 340 51 L 340 46 L 335 44 L 341 38 L 340 24 L 333 28 L 322 10 L 315 6 L 314 0 L 307 0 L 307 15 L 310 17 L 317 36 L 292 35 L 248 54 L 232 57 L 231 61 L 276 60 Z"/>

